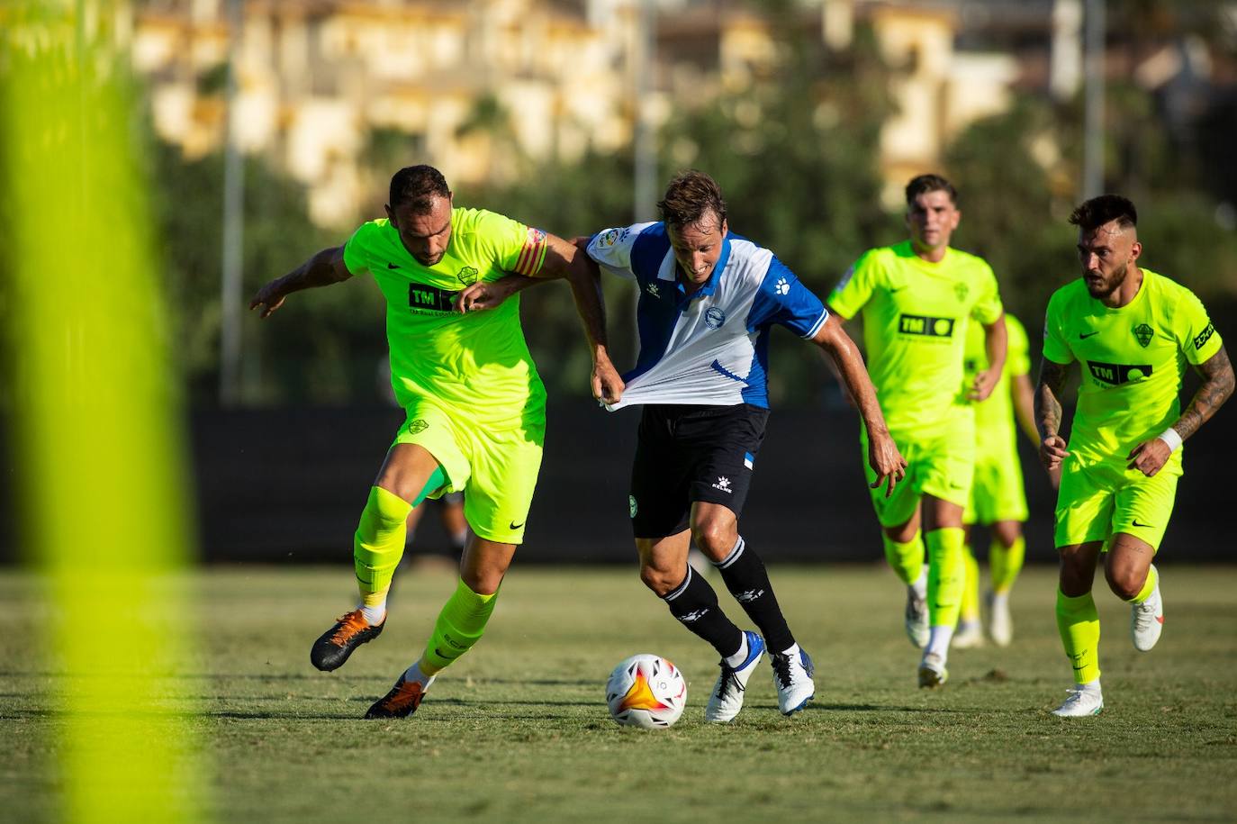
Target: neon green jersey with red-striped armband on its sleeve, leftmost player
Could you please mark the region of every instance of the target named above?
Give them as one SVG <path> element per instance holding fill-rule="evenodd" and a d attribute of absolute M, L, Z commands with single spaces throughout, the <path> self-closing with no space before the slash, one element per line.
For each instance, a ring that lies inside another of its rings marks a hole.
<path fill-rule="evenodd" d="M 353 273 L 374 275 L 386 298 L 391 386 L 401 406 L 428 398 L 461 422 L 544 424 L 546 387 L 524 343 L 520 301 L 487 312 L 452 312 L 465 286 L 511 272 L 534 275 L 544 256 L 544 231 L 479 209 L 452 209 L 447 252 L 428 267 L 408 254 L 386 219 L 353 234 L 344 264 Z"/>

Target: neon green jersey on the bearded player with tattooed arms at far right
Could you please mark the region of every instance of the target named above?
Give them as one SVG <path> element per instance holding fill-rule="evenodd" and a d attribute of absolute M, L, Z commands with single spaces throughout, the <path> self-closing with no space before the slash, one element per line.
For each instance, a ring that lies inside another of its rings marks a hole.
<path fill-rule="evenodd" d="M 1048 302 L 1044 358 L 1082 367 L 1069 449 L 1084 459 L 1126 463 L 1134 447 L 1176 423 L 1185 361 L 1201 364 L 1220 351 L 1194 292 L 1142 272 L 1138 294 L 1119 309 L 1091 297 L 1081 278 Z"/>

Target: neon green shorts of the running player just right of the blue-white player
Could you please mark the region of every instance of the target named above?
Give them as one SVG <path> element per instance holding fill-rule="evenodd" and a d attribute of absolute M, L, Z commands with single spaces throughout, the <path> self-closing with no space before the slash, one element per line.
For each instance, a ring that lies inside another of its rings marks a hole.
<path fill-rule="evenodd" d="M 893 489 L 892 497 L 884 496 L 883 484 L 868 490 L 881 526 L 909 521 L 924 495 L 966 506 L 975 469 L 975 417 L 969 408 L 952 416 L 935 432 L 903 431 L 892 434 L 907 459 L 907 476 Z M 860 445 L 863 450 L 863 475 L 871 485 L 876 481 L 876 473 L 867 465 L 866 429 L 860 431 Z"/>

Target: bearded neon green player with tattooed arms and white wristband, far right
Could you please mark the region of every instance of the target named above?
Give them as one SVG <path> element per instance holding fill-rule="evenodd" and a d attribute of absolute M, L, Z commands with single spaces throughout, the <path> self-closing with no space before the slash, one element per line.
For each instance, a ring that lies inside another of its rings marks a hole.
<path fill-rule="evenodd" d="M 1134 648 L 1147 652 L 1164 625 L 1152 559 L 1173 512 L 1181 442 L 1232 395 L 1233 369 L 1199 298 L 1138 266 L 1143 246 L 1133 203 L 1102 194 L 1075 209 L 1070 223 L 1079 228 L 1082 277 L 1048 302 L 1035 423 L 1044 466 L 1061 470 L 1056 627 L 1075 682 L 1053 713 L 1082 718 L 1103 709 L 1091 596 L 1100 554 L 1108 588 L 1131 604 Z M 1082 380 L 1066 444 L 1060 395 L 1075 361 Z M 1186 361 L 1202 385 L 1181 412 Z"/>

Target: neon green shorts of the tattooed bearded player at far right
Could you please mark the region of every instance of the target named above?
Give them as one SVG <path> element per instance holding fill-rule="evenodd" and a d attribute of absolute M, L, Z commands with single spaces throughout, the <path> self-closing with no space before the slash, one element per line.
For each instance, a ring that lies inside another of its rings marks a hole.
<path fill-rule="evenodd" d="M 1107 542 L 1115 532 L 1124 532 L 1159 549 L 1173 515 L 1180 476 L 1180 460 L 1170 460 L 1147 478 L 1141 471 L 1126 469 L 1124 461 L 1085 461 L 1071 454 L 1061 465 L 1056 546 Z"/>

